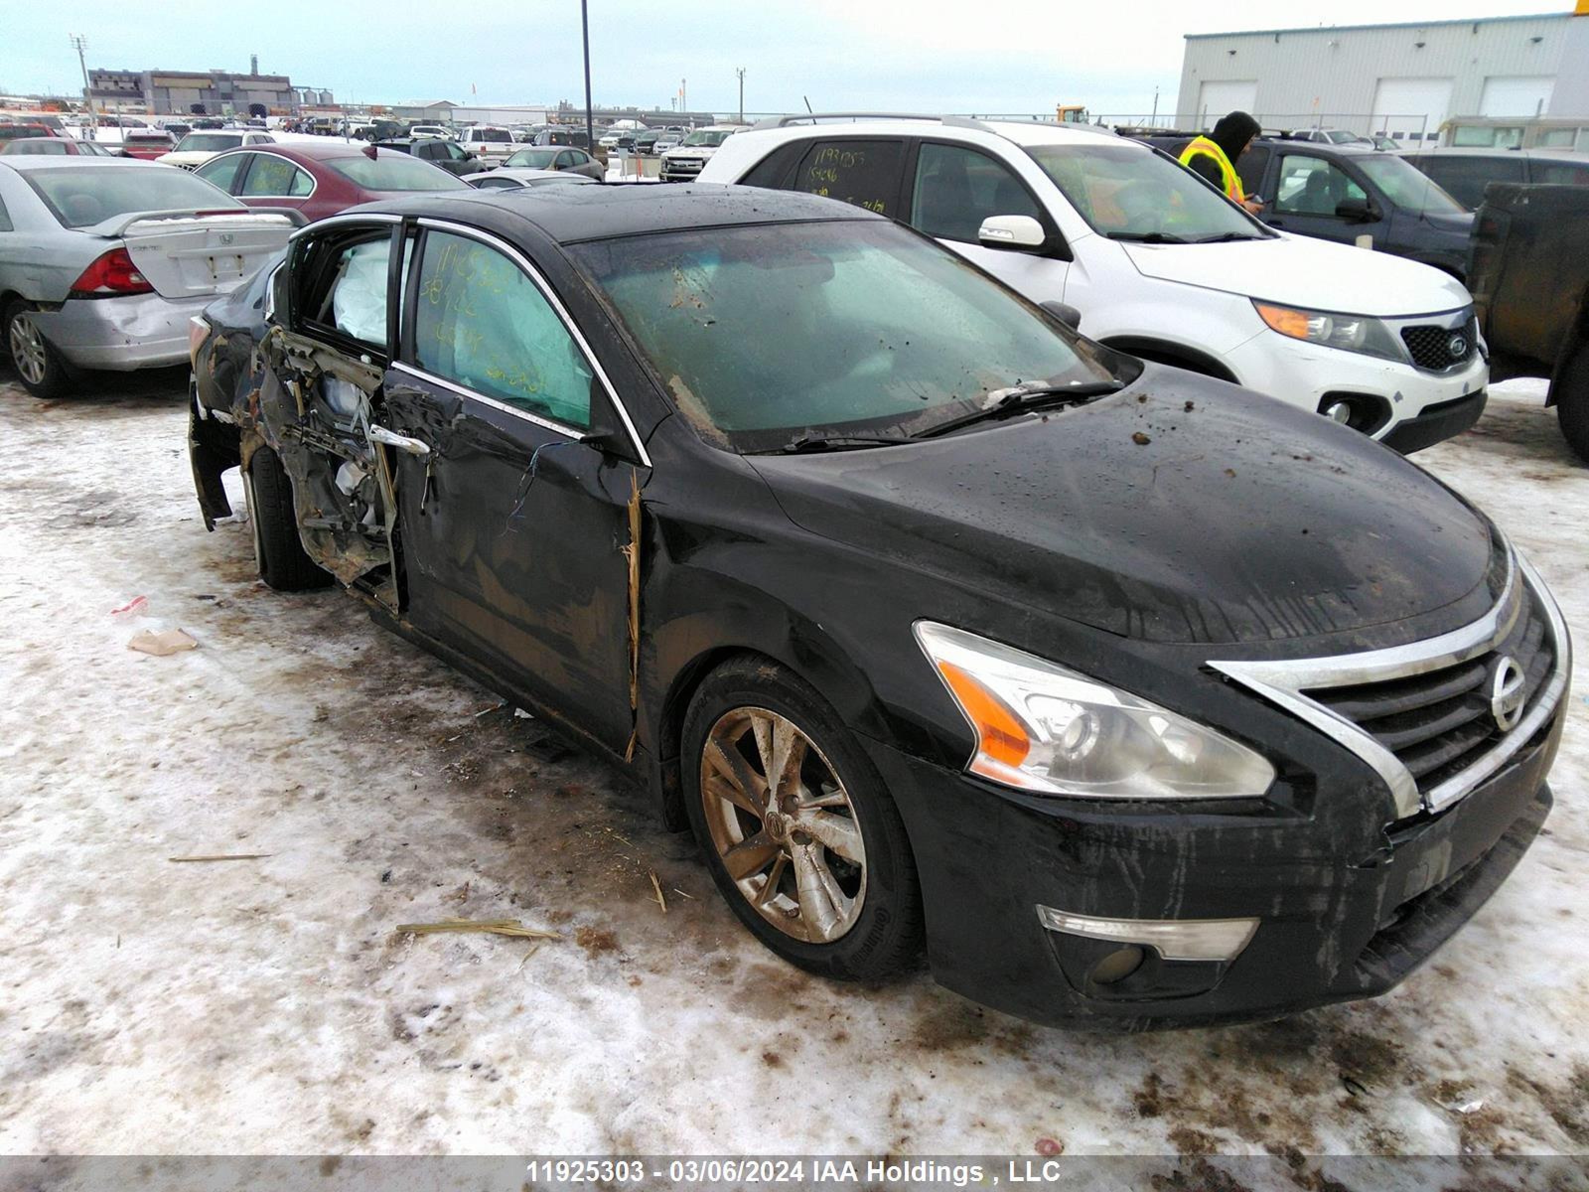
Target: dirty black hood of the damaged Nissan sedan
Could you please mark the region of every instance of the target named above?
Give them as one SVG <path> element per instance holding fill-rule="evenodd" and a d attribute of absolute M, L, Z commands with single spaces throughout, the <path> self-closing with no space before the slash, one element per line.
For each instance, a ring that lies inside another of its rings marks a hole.
<path fill-rule="evenodd" d="M 1389 448 L 1173 369 L 1046 418 L 752 462 L 810 532 L 1144 641 L 1347 633 L 1490 564 L 1486 520 Z"/>

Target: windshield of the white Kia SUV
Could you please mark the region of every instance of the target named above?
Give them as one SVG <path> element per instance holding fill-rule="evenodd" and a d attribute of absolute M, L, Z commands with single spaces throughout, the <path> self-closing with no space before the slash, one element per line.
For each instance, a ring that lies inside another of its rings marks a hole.
<path fill-rule="evenodd" d="M 1141 145 L 1033 145 L 1026 153 L 1082 219 L 1111 240 L 1271 235 L 1195 173 Z"/>

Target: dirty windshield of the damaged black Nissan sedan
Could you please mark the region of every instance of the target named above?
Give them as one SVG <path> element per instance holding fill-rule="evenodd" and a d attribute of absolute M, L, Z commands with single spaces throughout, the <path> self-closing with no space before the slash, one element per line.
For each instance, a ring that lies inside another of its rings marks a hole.
<path fill-rule="evenodd" d="M 910 435 L 1014 385 L 1109 381 L 1085 342 L 896 224 L 834 219 L 570 250 L 709 442 Z"/>

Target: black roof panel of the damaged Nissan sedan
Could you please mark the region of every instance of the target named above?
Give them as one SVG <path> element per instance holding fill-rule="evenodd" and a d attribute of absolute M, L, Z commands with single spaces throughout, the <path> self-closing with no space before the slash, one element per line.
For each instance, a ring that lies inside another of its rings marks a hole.
<path fill-rule="evenodd" d="M 521 186 L 418 194 L 356 208 L 397 215 L 459 216 L 458 203 L 493 207 L 534 224 L 558 243 L 607 240 L 693 227 L 779 224 L 839 219 L 883 219 L 837 199 L 799 191 L 715 183 L 594 183 L 591 186 Z M 350 215 L 351 215 L 350 213 Z"/>

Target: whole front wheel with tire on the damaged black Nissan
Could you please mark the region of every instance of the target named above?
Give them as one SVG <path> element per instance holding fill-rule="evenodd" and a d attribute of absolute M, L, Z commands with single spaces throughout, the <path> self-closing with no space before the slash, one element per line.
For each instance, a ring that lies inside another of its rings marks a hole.
<path fill-rule="evenodd" d="M 690 702 L 682 771 L 712 879 L 763 944 L 841 981 L 914 966 L 922 893 L 904 825 L 810 683 L 766 658 L 720 666 Z"/>

